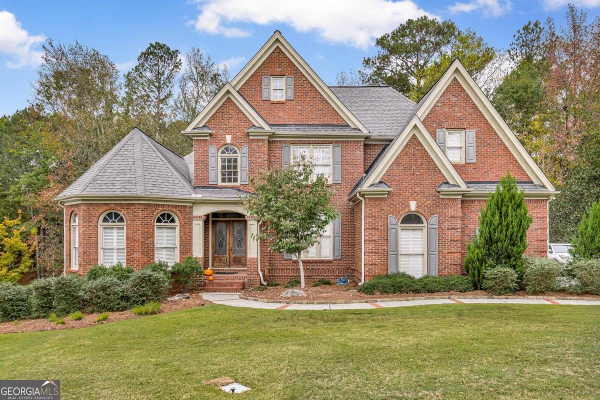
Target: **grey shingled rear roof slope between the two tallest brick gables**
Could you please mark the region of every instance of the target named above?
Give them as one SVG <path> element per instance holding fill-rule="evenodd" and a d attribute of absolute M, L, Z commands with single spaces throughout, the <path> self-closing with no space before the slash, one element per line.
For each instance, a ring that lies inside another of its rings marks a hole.
<path fill-rule="evenodd" d="M 391 86 L 329 86 L 369 130 L 371 138 L 397 136 L 416 104 Z"/>

